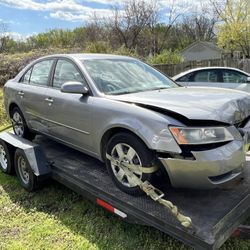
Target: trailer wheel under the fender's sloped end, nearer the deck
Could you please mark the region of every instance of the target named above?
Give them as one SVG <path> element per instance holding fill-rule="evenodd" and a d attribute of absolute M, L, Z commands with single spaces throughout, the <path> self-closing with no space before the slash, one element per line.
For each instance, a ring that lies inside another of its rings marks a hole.
<path fill-rule="evenodd" d="M 23 150 L 16 150 L 14 163 L 16 175 L 21 186 L 29 192 L 35 191 L 39 187 L 37 176 L 34 175 Z"/>

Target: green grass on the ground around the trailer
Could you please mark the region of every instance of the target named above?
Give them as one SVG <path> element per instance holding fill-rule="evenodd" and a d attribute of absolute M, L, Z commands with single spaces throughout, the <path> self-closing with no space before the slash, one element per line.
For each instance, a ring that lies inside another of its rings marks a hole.
<path fill-rule="evenodd" d="M 0 173 L 0 249 L 189 248 L 153 228 L 125 223 L 56 182 L 28 193 L 14 176 Z M 229 239 L 222 249 L 247 250 L 250 241 Z"/>

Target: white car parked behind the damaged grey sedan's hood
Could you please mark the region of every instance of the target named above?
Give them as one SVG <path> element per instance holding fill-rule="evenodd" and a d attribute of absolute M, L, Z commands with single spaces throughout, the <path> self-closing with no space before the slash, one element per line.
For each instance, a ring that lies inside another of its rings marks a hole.
<path fill-rule="evenodd" d="M 250 92 L 250 74 L 236 68 L 195 68 L 172 77 L 181 86 L 206 86 Z"/>

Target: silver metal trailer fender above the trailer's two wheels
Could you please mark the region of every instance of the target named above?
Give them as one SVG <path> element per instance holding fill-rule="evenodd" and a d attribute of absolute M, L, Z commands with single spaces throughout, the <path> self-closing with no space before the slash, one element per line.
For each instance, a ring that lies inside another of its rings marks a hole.
<path fill-rule="evenodd" d="M 10 132 L 0 133 L 0 140 L 3 140 L 14 148 L 22 149 L 36 176 L 44 176 L 51 173 L 51 164 L 48 162 L 43 149 L 38 144 L 24 138 L 20 138 Z M 14 155 L 11 157 L 14 157 Z"/>

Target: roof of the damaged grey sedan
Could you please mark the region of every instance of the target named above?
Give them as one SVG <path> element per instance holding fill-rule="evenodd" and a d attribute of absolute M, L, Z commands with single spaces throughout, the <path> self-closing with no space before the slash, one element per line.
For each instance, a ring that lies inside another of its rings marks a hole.
<path fill-rule="evenodd" d="M 66 57 L 74 58 L 78 60 L 89 60 L 89 59 L 134 59 L 129 56 L 113 55 L 113 54 L 97 54 L 97 53 L 78 53 L 78 54 L 54 54 L 49 56 L 44 56 L 39 59 L 45 59 L 50 57 Z"/>

